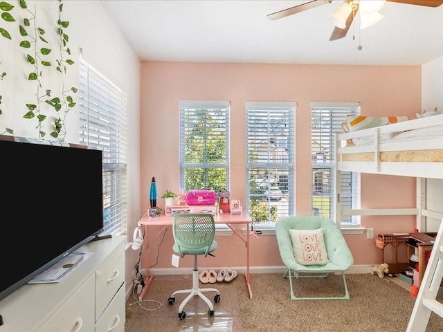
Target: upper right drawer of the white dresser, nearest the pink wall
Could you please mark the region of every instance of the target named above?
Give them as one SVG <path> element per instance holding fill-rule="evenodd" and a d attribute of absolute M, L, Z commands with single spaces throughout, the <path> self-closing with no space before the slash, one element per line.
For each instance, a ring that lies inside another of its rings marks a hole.
<path fill-rule="evenodd" d="M 121 243 L 96 269 L 96 322 L 125 282 L 125 247 Z"/>

